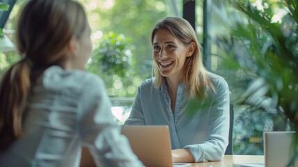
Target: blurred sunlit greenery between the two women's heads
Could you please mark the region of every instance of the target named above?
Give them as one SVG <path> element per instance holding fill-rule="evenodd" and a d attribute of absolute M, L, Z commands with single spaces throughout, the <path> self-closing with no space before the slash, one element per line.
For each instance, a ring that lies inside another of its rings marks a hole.
<path fill-rule="evenodd" d="M 133 97 L 141 81 L 151 77 L 151 29 L 159 19 L 172 15 L 168 1 L 81 2 L 94 44 L 88 70 L 104 79 L 108 95 Z"/>

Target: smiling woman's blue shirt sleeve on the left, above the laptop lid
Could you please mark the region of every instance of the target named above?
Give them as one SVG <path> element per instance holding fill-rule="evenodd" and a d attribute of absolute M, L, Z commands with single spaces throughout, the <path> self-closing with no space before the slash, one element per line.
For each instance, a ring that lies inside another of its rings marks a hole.
<path fill-rule="evenodd" d="M 131 113 L 129 118 L 124 122 L 124 125 L 145 125 L 144 115 L 142 113 L 141 93 L 141 86 L 139 86 L 138 93 L 135 95 L 135 100 L 133 101 Z"/>

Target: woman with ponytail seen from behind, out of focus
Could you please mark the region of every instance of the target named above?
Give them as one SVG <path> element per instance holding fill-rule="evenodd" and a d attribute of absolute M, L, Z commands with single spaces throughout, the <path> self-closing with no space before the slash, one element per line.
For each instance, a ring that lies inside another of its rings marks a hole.
<path fill-rule="evenodd" d="M 85 71 L 92 44 L 81 4 L 28 1 L 16 29 L 22 59 L 0 82 L 0 166 L 78 166 L 82 147 L 97 166 L 143 166 L 103 81 Z"/>

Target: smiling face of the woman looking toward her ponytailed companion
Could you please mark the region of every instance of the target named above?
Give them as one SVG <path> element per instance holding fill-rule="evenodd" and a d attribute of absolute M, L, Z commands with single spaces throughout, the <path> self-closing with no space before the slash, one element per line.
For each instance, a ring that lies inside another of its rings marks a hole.
<path fill-rule="evenodd" d="M 188 46 L 167 29 L 156 31 L 153 40 L 153 59 L 163 77 L 183 79 L 183 66 L 188 55 Z"/>

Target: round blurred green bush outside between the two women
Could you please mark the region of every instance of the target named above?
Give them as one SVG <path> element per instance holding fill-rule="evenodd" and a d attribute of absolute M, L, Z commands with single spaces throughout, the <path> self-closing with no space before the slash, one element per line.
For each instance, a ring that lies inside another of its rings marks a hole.
<path fill-rule="evenodd" d="M 133 47 L 123 34 L 109 32 L 92 51 L 88 70 L 97 74 L 105 72 L 122 78 L 129 77 L 133 71 L 131 49 Z"/>

